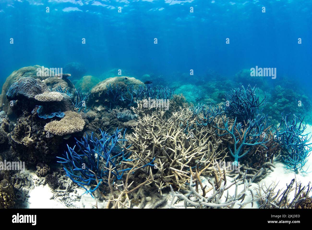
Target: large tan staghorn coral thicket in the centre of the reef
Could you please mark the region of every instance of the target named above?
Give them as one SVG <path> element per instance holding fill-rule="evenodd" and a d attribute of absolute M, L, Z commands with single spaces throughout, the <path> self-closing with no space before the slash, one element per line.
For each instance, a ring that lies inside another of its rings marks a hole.
<path fill-rule="evenodd" d="M 142 101 L 138 102 L 138 110 Z M 201 167 L 199 174 L 212 174 L 215 160 L 224 159 L 225 148 L 222 140 L 210 132 L 209 127 L 200 127 L 193 133 L 185 133 L 183 122 L 189 120 L 192 111 L 180 108 L 177 111 L 146 110 L 138 120 L 134 133 L 126 138 L 132 143 L 130 150 L 137 154 L 155 158 L 154 175 L 156 186 L 161 189 L 170 184 L 178 189 L 185 189 L 190 180 L 191 168 L 197 164 Z M 181 122 L 183 120 L 183 122 Z M 194 121 L 193 121 L 194 122 Z M 194 122 L 195 123 L 195 122 Z"/>

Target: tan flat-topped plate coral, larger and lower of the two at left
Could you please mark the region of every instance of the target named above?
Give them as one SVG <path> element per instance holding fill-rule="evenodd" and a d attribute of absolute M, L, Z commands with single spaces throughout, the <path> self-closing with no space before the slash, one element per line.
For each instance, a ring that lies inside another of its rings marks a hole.
<path fill-rule="evenodd" d="M 85 121 L 74 111 L 66 111 L 61 120 L 53 120 L 44 126 L 44 130 L 54 135 L 63 136 L 83 130 Z"/>

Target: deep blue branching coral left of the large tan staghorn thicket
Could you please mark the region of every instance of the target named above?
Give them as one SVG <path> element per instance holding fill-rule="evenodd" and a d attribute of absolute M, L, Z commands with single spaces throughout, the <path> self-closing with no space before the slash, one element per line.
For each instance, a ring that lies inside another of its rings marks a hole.
<path fill-rule="evenodd" d="M 92 132 L 90 137 L 86 135 L 80 141 L 76 139 L 73 148 L 67 145 L 68 152 L 66 151 L 64 157 L 57 157 L 61 159 L 57 162 L 63 164 L 67 176 L 92 197 L 92 193 L 101 184 L 108 186 L 110 173 L 114 180 L 121 180 L 124 173 L 132 169 L 122 167 L 122 162 L 135 160 L 129 159 L 132 152 L 128 150 L 131 145 L 125 139 L 126 130 L 123 135 L 119 129 L 113 135 L 102 130 L 100 132 L 101 138 L 94 137 Z M 142 167 L 154 166 L 153 161 L 154 159 Z"/>

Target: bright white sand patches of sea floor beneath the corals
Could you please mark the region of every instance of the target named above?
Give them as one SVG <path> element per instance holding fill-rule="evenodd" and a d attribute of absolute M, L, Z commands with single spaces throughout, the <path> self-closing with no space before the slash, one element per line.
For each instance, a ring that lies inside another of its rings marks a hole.
<path fill-rule="evenodd" d="M 307 125 L 306 133 L 312 133 L 312 126 Z M 297 183 L 302 183 L 303 186 L 306 186 L 311 181 L 311 173 L 312 173 L 312 156 L 309 156 L 308 162 L 304 166 L 304 170 L 307 170 L 308 174 L 296 174 L 294 171 L 286 169 L 284 164 L 280 162 L 275 162 L 275 169 L 273 172 L 264 177 L 261 183 L 265 183 L 266 186 L 269 186 L 272 182 L 278 183 L 276 186 L 277 190 L 284 190 L 286 188 L 286 184 L 289 184 L 293 178 L 296 178 Z M 43 179 L 39 178 L 35 171 L 27 170 L 28 178 L 33 179 L 33 186 L 28 188 L 25 195 L 23 192 L 19 194 L 19 200 L 21 201 L 18 206 L 24 208 L 105 208 L 107 202 L 97 202 L 95 198 L 92 198 L 90 194 L 82 195 L 85 190 L 76 187 L 74 192 L 66 192 L 66 190 L 52 190 L 47 184 L 43 184 Z M 211 185 L 207 182 L 208 177 L 203 180 L 203 184 L 211 187 Z M 233 181 L 232 177 L 227 176 L 227 181 Z M 255 188 L 258 187 L 257 183 L 252 183 L 252 189 L 254 193 L 256 193 Z M 244 185 L 240 185 L 238 187 L 238 191 L 243 190 Z M 235 186 L 232 186 L 229 189 L 229 194 L 234 194 Z M 294 193 L 295 191 L 293 191 Z M 160 208 L 170 208 L 171 195 L 169 193 L 163 193 L 163 196 L 167 198 L 167 202 L 163 203 Z M 291 196 L 290 196 L 291 197 Z M 147 203 L 144 208 L 152 207 L 152 200 L 150 197 L 147 197 Z M 251 200 L 251 194 L 245 198 L 245 202 Z M 183 201 L 179 201 L 174 204 L 174 207 L 184 208 Z M 234 208 L 240 207 L 235 204 Z M 251 203 L 246 205 L 245 208 L 258 208 L 259 204 L 254 203 L 253 207 L 251 207 Z M 134 207 L 138 208 L 138 207 Z"/>

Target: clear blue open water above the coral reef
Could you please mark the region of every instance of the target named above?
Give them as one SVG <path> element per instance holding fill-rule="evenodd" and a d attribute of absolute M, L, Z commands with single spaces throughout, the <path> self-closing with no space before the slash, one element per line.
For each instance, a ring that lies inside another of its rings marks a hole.
<path fill-rule="evenodd" d="M 24 66 L 73 61 L 94 76 L 114 68 L 137 76 L 194 69 L 190 81 L 207 69 L 231 78 L 257 65 L 277 69 L 268 81 L 286 76 L 307 91 L 311 9 L 306 0 L 1 0 L 0 84 Z"/>

